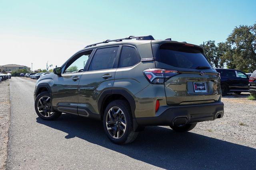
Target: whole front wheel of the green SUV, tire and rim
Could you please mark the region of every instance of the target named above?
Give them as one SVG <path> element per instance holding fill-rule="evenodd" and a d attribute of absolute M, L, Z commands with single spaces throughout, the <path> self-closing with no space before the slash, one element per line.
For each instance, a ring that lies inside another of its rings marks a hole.
<path fill-rule="evenodd" d="M 38 117 L 44 120 L 54 120 L 62 114 L 52 110 L 52 100 L 48 92 L 40 93 L 35 100 L 35 110 Z"/>

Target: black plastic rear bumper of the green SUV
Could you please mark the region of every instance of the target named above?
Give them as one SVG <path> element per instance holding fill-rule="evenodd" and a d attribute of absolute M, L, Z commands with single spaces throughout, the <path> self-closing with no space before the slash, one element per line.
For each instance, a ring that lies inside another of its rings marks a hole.
<path fill-rule="evenodd" d="M 192 104 L 171 106 L 156 117 L 135 118 L 138 125 L 181 125 L 209 121 L 224 115 L 224 104 Z"/>

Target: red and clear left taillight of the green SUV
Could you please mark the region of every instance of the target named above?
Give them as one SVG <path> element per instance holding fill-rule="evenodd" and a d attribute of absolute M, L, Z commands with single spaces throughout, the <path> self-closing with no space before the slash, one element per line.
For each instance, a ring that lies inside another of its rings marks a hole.
<path fill-rule="evenodd" d="M 148 81 L 152 84 L 163 84 L 164 81 L 172 76 L 177 75 L 179 72 L 177 70 L 164 70 L 159 68 L 144 70 Z"/>

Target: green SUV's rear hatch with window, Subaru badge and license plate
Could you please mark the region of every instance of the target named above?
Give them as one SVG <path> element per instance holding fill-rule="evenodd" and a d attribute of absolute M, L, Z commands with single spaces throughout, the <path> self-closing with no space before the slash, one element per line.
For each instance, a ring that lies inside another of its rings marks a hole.
<path fill-rule="evenodd" d="M 187 43 L 152 44 L 156 68 L 164 70 L 168 105 L 220 100 L 220 78 L 203 49 Z"/>

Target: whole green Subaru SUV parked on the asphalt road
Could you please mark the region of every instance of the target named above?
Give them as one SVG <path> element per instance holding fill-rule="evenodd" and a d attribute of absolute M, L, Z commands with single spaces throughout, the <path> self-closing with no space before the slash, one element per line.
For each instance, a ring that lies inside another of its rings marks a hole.
<path fill-rule="evenodd" d="M 148 35 L 86 46 L 39 78 L 34 106 L 44 120 L 99 119 L 110 141 L 124 144 L 147 125 L 185 132 L 221 118 L 221 97 L 220 75 L 201 46 Z"/>

